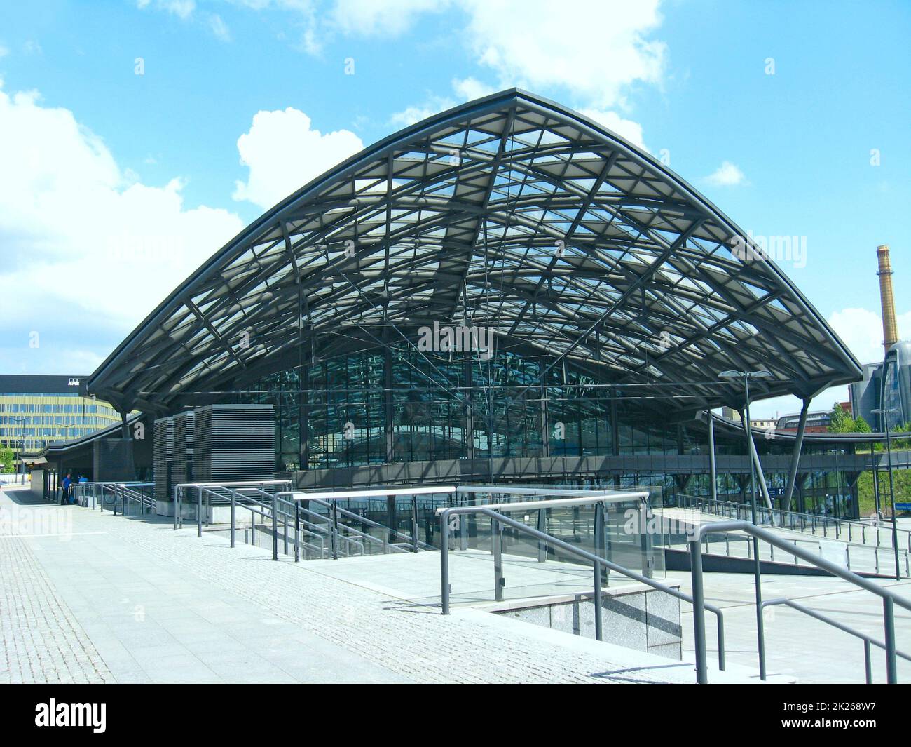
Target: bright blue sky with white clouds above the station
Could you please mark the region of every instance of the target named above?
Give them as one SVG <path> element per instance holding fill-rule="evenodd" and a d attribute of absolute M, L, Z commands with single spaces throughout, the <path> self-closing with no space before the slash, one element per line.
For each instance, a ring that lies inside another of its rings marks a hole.
<path fill-rule="evenodd" d="M 899 2 L 5 4 L 0 369 L 88 373 L 284 194 L 513 85 L 669 156 L 745 231 L 805 237 L 779 264 L 877 358 L 877 244 L 911 336 L 909 35 Z"/>

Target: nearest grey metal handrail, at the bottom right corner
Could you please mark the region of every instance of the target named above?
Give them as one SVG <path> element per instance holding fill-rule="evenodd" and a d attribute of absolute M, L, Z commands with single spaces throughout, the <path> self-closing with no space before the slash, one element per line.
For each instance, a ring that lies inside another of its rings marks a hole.
<path fill-rule="evenodd" d="M 696 600 L 693 604 L 693 635 L 696 646 L 696 681 L 699 683 L 708 682 L 708 668 L 706 665 L 705 654 L 705 594 L 702 585 L 702 547 L 701 539 L 705 534 L 723 533 L 723 532 L 746 532 L 752 534 L 757 539 L 761 539 L 770 545 L 775 545 L 785 552 L 797 555 L 808 563 L 822 568 L 833 576 L 838 576 L 844 581 L 859 586 L 866 591 L 872 592 L 877 597 L 883 599 L 883 626 L 885 628 L 885 669 L 886 680 L 889 684 L 895 684 L 898 679 L 896 664 L 896 620 L 895 605 L 905 607 L 911 610 L 911 600 L 899 597 L 895 592 L 889 591 L 882 586 L 877 586 L 872 581 L 858 576 L 857 574 L 843 568 L 841 565 L 832 563 L 824 557 L 814 555 L 813 553 L 790 545 L 787 540 L 783 540 L 777 534 L 763 529 L 760 526 L 750 522 L 715 522 L 713 524 L 702 524 L 693 534 L 690 540 L 690 568 L 692 576 L 692 596 Z M 757 576 L 756 584 L 756 605 L 762 608 L 763 597 L 761 588 L 761 577 Z M 765 638 L 762 624 L 762 615 L 757 616 L 757 635 L 759 637 L 759 655 L 760 655 L 760 676 L 765 679 L 764 673 L 764 650 Z"/>

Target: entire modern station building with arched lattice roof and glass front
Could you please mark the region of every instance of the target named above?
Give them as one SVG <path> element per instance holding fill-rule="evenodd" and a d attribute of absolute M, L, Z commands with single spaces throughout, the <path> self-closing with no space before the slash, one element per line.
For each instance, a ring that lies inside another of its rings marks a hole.
<path fill-rule="evenodd" d="M 746 501 L 752 462 L 766 502 L 856 515 L 878 458 L 856 447 L 877 435 L 754 431 L 751 457 L 742 425 L 711 415 L 744 406 L 726 371 L 767 371 L 751 399 L 796 395 L 804 421 L 814 395 L 862 377 L 690 184 L 511 89 L 377 142 L 212 254 L 87 381 L 143 413 L 146 441 L 125 415 L 47 458 L 118 441 L 134 471 L 119 479 L 152 475 L 162 513 L 179 476 L 261 470 L 265 453 L 302 488 L 656 485 L 666 501 Z M 271 406 L 273 428 L 244 435 L 242 405 Z M 230 438 L 219 412 L 239 419 Z"/>

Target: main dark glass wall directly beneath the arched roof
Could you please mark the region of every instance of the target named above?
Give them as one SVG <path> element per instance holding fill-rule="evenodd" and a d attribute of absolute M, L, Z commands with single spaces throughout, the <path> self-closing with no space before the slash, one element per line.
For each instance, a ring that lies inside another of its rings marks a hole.
<path fill-rule="evenodd" d="M 404 345 L 356 353 L 305 366 L 303 377 L 299 368 L 272 374 L 236 399 L 276 407 L 282 472 L 302 469 L 302 434 L 305 469 L 701 450 L 687 427 L 648 417 L 570 365 L 542 383 L 543 357 L 429 360 Z"/>

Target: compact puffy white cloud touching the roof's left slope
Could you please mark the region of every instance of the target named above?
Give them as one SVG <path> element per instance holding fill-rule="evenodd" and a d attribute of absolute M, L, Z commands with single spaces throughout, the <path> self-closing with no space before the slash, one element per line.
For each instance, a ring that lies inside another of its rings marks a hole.
<path fill-rule="evenodd" d="M 299 109 L 260 111 L 249 132 L 237 141 L 241 163 L 250 169 L 246 182 L 236 182 L 233 197 L 268 208 L 314 177 L 363 150 L 349 130 L 322 134 Z"/>

